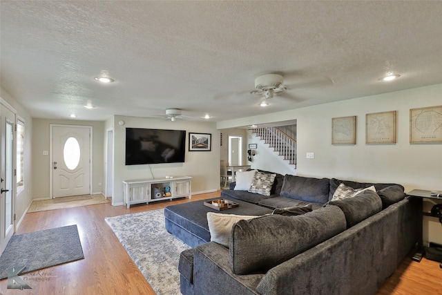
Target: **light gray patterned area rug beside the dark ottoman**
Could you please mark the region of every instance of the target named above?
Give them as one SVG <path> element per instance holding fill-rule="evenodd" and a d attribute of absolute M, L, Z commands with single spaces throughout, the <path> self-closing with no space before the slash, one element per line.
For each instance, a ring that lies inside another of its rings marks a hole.
<path fill-rule="evenodd" d="M 180 253 L 190 247 L 166 231 L 164 209 L 105 218 L 158 295 L 180 294 Z"/>

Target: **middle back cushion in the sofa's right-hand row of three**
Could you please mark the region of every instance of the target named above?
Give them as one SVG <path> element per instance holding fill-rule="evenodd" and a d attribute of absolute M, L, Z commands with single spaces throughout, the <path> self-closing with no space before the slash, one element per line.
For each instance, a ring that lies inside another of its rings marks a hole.
<path fill-rule="evenodd" d="M 332 200 L 329 204 L 338 206 L 344 212 L 347 229 L 382 211 L 381 198 L 371 189 L 365 189 L 353 198 Z"/>

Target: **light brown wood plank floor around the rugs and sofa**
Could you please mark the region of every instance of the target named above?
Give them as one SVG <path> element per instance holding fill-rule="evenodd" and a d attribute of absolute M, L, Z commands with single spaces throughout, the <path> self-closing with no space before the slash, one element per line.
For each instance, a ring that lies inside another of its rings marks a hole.
<path fill-rule="evenodd" d="M 26 282 L 32 289 L 8 289 L 7 280 L 0 280 L 0 294 L 155 294 L 104 218 L 218 196 L 219 191 L 194 195 L 192 200 L 142 204 L 131 209 L 96 204 L 27 213 L 17 234 L 76 224 L 85 258 L 28 274 L 34 279 Z M 442 294 L 442 269 L 435 261 L 423 258 L 416 263 L 407 257 L 377 294 Z"/>

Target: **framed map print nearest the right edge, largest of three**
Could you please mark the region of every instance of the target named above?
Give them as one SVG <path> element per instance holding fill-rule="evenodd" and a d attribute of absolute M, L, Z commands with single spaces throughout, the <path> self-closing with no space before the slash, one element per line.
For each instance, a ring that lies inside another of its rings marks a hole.
<path fill-rule="evenodd" d="M 410 109 L 410 143 L 442 143 L 442 106 Z"/>

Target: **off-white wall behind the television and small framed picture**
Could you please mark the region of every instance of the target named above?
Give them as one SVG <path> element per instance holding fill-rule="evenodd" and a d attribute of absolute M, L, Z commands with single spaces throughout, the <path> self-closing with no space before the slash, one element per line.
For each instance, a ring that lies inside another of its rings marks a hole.
<path fill-rule="evenodd" d="M 124 126 L 118 122 L 124 121 Z M 124 180 L 164 178 L 166 175 L 192 176 L 192 193 L 205 193 L 220 189 L 220 131 L 213 122 L 191 122 L 180 120 L 150 119 L 142 117 L 114 116 L 106 121 L 106 129 L 114 128 L 114 187 L 113 204 L 123 204 Z M 184 163 L 168 164 L 124 164 L 126 127 L 185 130 L 186 158 Z M 189 151 L 189 132 L 211 133 L 211 151 Z"/>

